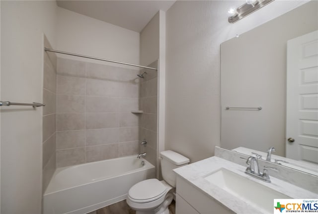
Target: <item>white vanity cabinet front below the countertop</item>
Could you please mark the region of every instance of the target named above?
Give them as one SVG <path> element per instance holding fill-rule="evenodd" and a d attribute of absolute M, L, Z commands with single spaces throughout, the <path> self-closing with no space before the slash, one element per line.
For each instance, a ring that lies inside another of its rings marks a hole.
<path fill-rule="evenodd" d="M 176 214 L 234 214 L 180 176 L 177 176 L 176 193 Z"/>

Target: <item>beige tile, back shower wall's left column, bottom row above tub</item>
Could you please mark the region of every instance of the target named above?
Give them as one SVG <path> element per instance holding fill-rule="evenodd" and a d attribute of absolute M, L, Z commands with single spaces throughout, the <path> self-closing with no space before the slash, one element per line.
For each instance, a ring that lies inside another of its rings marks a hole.
<path fill-rule="evenodd" d="M 85 147 L 56 151 L 57 167 L 85 163 Z"/>

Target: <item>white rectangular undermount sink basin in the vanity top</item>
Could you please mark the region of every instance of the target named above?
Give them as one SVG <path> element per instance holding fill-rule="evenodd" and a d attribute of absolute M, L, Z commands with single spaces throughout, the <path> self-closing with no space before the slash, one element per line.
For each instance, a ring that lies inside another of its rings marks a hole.
<path fill-rule="evenodd" d="M 259 209 L 261 213 L 273 213 L 274 199 L 290 199 L 284 194 L 225 168 L 204 176 L 204 179 Z"/>

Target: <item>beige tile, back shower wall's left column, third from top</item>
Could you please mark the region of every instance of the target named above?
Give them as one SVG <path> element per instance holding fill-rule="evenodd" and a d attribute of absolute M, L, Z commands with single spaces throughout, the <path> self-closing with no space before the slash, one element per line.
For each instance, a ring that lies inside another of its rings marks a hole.
<path fill-rule="evenodd" d="M 58 113 L 85 112 L 85 97 L 78 95 L 57 95 Z"/>

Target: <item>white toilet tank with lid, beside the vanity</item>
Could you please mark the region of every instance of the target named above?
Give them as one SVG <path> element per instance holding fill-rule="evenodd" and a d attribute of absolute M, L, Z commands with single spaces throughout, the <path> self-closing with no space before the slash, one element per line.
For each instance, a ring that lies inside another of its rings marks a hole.
<path fill-rule="evenodd" d="M 172 170 L 187 165 L 190 162 L 189 158 L 171 150 L 160 152 L 160 158 L 163 180 L 175 187 L 176 174 Z"/>

